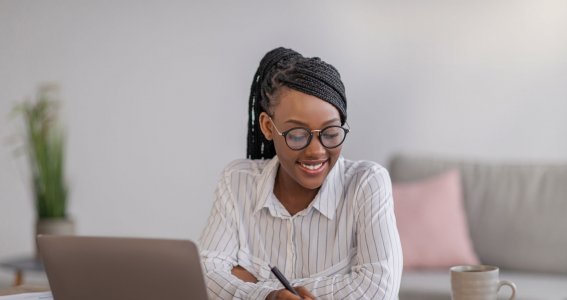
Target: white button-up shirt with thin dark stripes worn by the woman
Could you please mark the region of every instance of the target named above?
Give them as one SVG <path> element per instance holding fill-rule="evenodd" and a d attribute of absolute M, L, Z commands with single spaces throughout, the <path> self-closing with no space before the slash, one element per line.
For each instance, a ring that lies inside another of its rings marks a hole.
<path fill-rule="evenodd" d="M 199 240 L 211 299 L 265 299 L 292 285 L 318 299 L 397 299 L 402 249 L 386 169 L 340 157 L 319 192 L 291 216 L 273 193 L 279 162 L 236 160 L 223 171 Z M 257 283 L 231 275 L 240 265 Z"/>

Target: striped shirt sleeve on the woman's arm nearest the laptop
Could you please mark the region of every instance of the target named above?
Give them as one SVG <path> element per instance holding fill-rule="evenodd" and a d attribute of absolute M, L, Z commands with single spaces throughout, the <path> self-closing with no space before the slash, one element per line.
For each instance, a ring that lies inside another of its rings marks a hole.
<path fill-rule="evenodd" d="M 244 282 L 233 276 L 238 265 L 238 222 L 227 175 L 215 190 L 215 201 L 199 246 L 210 299 L 265 299 L 281 287 L 276 282 Z"/>

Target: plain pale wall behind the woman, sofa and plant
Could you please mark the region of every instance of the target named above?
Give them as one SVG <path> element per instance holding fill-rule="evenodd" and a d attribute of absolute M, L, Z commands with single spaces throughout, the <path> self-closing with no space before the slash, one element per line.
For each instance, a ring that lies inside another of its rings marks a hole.
<path fill-rule="evenodd" d="M 235 2 L 0 0 L 0 259 L 33 251 L 7 116 L 45 81 L 62 87 L 80 234 L 196 239 L 280 45 L 341 71 L 347 157 L 567 160 L 565 1 Z"/>

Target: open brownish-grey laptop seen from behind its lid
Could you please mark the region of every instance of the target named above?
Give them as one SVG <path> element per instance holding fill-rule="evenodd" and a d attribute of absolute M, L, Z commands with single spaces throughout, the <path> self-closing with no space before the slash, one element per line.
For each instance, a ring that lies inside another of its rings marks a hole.
<path fill-rule="evenodd" d="M 207 299 L 190 240 L 37 237 L 55 300 Z"/>

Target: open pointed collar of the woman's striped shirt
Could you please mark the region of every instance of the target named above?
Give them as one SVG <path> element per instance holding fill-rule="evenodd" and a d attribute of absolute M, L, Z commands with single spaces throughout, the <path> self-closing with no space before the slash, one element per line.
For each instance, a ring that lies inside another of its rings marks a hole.
<path fill-rule="evenodd" d="M 257 212 L 262 208 L 268 208 L 272 215 L 275 215 L 277 207 L 281 206 L 280 203 L 277 203 L 278 205 L 274 203 L 277 198 L 273 196 L 278 167 L 279 160 L 276 155 L 266 164 L 260 173 L 260 180 L 258 181 L 258 190 L 256 194 L 258 202 L 254 208 L 254 212 Z M 342 199 L 344 185 L 343 174 L 344 159 L 341 156 L 323 181 L 315 199 L 313 199 L 309 207 L 303 212 L 307 212 L 310 207 L 313 207 L 328 219 L 333 220 L 335 218 L 339 201 Z M 299 214 L 302 214 L 303 212 L 300 212 Z"/>

